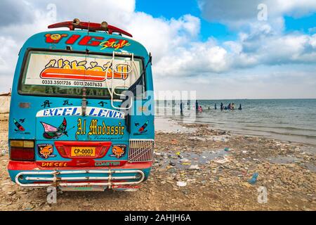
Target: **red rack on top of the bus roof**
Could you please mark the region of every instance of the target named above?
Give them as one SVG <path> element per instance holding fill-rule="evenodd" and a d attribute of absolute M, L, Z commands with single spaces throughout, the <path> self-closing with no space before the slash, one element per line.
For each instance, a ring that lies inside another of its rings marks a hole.
<path fill-rule="evenodd" d="M 112 25 L 108 25 L 105 21 L 102 23 L 90 23 L 90 22 L 80 22 L 79 19 L 74 19 L 72 21 L 65 21 L 61 23 L 55 23 L 52 25 L 49 25 L 48 28 L 60 28 L 60 27 L 68 27 L 70 30 L 74 29 L 84 29 L 89 31 L 98 31 L 103 30 L 109 32 L 109 34 L 112 34 L 113 32 L 119 33 L 119 34 L 125 34 L 126 36 L 133 37 L 132 34 L 129 32 L 126 32 L 125 30 L 121 30 L 118 27 L 114 27 Z"/>

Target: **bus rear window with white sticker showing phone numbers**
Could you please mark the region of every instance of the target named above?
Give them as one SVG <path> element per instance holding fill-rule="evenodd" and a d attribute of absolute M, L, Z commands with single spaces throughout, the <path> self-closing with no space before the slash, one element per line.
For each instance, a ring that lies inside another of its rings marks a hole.
<path fill-rule="evenodd" d="M 83 87 L 86 87 L 87 97 L 110 98 L 109 89 L 115 89 L 116 93 L 129 89 L 142 73 L 140 58 L 131 62 L 131 58 L 115 56 L 113 63 L 112 56 L 29 51 L 22 68 L 19 92 L 82 97 Z"/>

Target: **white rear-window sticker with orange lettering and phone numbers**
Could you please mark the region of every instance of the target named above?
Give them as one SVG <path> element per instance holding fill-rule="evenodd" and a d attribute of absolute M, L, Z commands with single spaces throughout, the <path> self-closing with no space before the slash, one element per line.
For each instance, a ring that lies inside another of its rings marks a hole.
<path fill-rule="evenodd" d="M 44 86 L 131 86 L 140 77 L 140 61 L 83 54 L 33 53 L 29 56 L 24 83 Z M 47 105 L 47 104 L 46 104 Z"/>

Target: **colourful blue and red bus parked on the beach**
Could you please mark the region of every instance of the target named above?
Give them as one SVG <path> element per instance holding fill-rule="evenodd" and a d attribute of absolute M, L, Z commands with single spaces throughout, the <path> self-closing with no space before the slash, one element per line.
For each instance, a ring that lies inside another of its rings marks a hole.
<path fill-rule="evenodd" d="M 12 181 L 64 191 L 137 190 L 154 150 L 150 53 L 106 22 L 74 19 L 48 28 L 60 29 L 27 39 L 15 68 Z"/>

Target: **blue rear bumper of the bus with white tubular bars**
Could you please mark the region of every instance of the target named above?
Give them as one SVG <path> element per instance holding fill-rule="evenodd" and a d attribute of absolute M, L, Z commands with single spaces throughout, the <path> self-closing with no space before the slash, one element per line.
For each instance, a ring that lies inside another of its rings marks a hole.
<path fill-rule="evenodd" d="M 142 169 L 53 169 L 12 170 L 11 179 L 24 188 L 55 186 L 65 191 L 137 191 L 150 167 Z"/>

